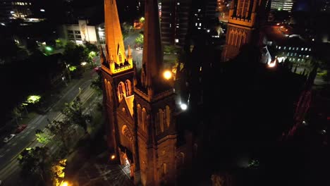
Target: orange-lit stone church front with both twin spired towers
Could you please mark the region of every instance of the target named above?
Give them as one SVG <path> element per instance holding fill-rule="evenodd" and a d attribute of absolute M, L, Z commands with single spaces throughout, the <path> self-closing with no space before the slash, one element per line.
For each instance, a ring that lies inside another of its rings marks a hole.
<path fill-rule="evenodd" d="M 192 161 L 193 138 L 179 142 L 173 82 L 161 76 L 162 52 L 157 0 L 145 1 L 142 69 L 125 55 L 115 0 L 104 1 L 106 47 L 102 49 L 108 146 L 130 166 L 135 184 L 174 185 Z M 195 144 L 197 147 L 197 144 Z"/>

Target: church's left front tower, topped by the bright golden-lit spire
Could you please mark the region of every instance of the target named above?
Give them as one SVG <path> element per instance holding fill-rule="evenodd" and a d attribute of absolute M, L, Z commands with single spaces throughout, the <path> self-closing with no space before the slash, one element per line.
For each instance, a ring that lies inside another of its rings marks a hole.
<path fill-rule="evenodd" d="M 104 26 L 106 44 L 101 48 L 103 77 L 103 99 L 106 108 L 107 142 L 114 154 L 118 155 L 118 115 L 122 101 L 133 96 L 133 58 L 128 46 L 126 56 L 123 35 L 119 23 L 116 0 L 104 0 Z"/>

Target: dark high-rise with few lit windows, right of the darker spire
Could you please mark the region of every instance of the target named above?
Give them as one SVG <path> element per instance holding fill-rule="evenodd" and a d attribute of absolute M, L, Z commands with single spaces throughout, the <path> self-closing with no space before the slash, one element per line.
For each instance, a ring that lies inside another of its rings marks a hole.
<path fill-rule="evenodd" d="M 188 31 L 191 0 L 161 0 L 159 17 L 163 45 L 183 46 Z"/>

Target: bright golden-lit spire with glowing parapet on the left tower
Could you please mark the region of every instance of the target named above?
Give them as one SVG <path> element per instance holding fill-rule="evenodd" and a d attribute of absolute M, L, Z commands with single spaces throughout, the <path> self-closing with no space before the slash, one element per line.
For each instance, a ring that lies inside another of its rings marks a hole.
<path fill-rule="evenodd" d="M 133 62 L 126 58 L 116 0 L 104 0 L 104 26 L 110 74 L 133 68 Z"/>

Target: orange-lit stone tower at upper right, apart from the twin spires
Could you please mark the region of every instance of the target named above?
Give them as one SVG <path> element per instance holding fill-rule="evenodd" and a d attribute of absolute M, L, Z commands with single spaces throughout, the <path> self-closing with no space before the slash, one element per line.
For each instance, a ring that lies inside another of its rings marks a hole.
<path fill-rule="evenodd" d="M 259 44 L 257 29 L 265 21 L 267 2 L 267 0 L 232 1 L 222 61 L 237 56 L 240 48 L 245 44 Z"/>

